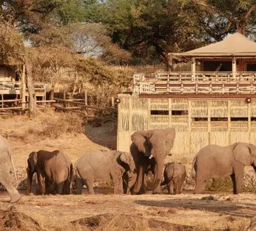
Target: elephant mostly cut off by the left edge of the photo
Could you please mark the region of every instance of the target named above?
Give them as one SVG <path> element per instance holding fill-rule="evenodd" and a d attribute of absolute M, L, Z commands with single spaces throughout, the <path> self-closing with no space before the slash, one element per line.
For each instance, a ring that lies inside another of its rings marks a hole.
<path fill-rule="evenodd" d="M 10 203 L 15 203 L 20 201 L 21 195 L 12 185 L 12 179 L 10 177 L 10 167 L 12 165 L 15 179 L 17 181 L 16 171 L 12 160 L 12 155 L 10 153 L 10 147 L 7 140 L 0 136 L 0 183 L 4 185 L 6 190 L 10 195 Z"/>

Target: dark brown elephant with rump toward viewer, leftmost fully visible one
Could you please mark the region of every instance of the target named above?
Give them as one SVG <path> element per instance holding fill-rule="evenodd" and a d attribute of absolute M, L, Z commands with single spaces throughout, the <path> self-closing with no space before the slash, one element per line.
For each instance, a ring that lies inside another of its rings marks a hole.
<path fill-rule="evenodd" d="M 59 150 L 33 151 L 29 154 L 27 165 L 27 194 L 31 192 L 34 173 L 37 173 L 41 194 L 54 194 L 56 191 L 58 194 L 70 194 L 73 164 L 66 154 Z"/>

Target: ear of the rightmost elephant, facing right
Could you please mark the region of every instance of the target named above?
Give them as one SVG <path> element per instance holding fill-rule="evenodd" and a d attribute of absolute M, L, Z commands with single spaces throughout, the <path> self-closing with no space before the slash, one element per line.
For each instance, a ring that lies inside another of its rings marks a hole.
<path fill-rule="evenodd" d="M 242 143 L 238 143 L 233 149 L 235 160 L 245 166 L 251 165 L 251 149 Z"/>

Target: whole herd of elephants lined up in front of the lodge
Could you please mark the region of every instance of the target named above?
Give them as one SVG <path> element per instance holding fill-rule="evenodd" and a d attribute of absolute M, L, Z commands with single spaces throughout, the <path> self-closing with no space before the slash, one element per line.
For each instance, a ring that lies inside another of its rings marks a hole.
<path fill-rule="evenodd" d="M 87 151 L 74 166 L 62 151 L 32 152 L 27 159 L 27 194 L 32 190 L 32 178 L 37 173 L 37 184 L 43 195 L 69 194 L 71 186 L 76 194 L 81 194 L 84 185 L 90 194 L 94 194 L 94 182 L 109 179 L 113 181 L 115 194 L 137 195 L 146 193 L 144 177 L 150 171 L 154 180 L 147 188 L 153 194 L 161 192 L 161 185 L 168 185 L 170 194 L 181 193 L 186 178 L 185 167 L 177 162 L 164 164 L 175 136 L 174 128 L 137 131 L 131 136 L 130 153 L 116 150 Z M 9 144 L 0 136 L 0 182 L 9 192 L 10 202 L 16 202 L 21 196 L 11 183 L 11 165 Z M 250 143 L 238 142 L 227 147 L 208 145 L 202 148 L 193 160 L 192 170 L 196 172 L 194 193 L 202 193 L 208 179 L 224 176 L 232 178 L 233 193 L 240 193 L 244 167 L 249 165 L 256 171 L 256 146 Z"/>

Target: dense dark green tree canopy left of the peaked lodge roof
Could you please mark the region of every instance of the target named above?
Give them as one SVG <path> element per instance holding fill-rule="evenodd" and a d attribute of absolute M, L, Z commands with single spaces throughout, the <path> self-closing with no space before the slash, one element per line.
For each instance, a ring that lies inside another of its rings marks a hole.
<path fill-rule="evenodd" d="M 201 43 L 192 12 L 182 11 L 181 0 L 108 0 L 102 5 L 98 21 L 107 24 L 113 42 L 132 52 L 133 58 L 159 58 L 167 64 L 168 52 Z"/>

